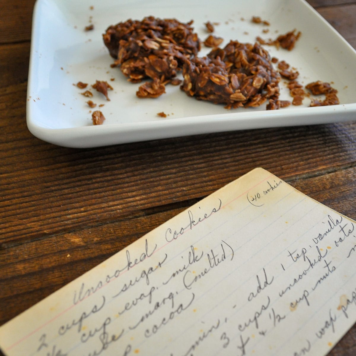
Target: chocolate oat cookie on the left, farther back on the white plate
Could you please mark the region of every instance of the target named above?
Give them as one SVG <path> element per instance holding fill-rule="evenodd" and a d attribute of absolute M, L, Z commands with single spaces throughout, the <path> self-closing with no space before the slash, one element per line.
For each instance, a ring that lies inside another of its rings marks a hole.
<path fill-rule="evenodd" d="M 153 16 L 142 21 L 129 19 L 109 26 L 103 40 L 116 59 L 113 66 L 120 66 L 130 82 L 157 78 L 166 83 L 181 70 L 185 59 L 200 50 L 192 23 Z"/>

